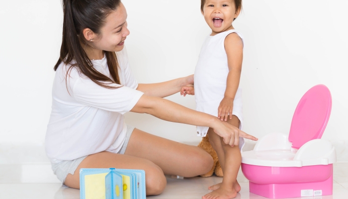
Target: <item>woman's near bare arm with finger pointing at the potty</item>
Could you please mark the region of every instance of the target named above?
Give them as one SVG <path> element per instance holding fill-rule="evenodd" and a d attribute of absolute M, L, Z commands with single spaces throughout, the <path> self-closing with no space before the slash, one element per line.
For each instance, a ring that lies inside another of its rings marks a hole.
<path fill-rule="evenodd" d="M 209 126 L 215 133 L 223 138 L 226 144 L 239 145 L 239 138 L 258 140 L 254 136 L 239 130 L 239 128 L 222 122 L 217 117 L 198 112 L 182 105 L 158 97 L 143 95 L 137 104 L 131 109 L 132 112 L 148 113 L 163 120 L 191 124 L 196 126 Z"/>

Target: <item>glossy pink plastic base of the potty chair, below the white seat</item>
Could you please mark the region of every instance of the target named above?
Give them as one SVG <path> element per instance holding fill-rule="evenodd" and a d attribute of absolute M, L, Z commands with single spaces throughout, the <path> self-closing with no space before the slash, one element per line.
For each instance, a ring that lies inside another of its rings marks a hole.
<path fill-rule="evenodd" d="M 250 181 L 250 192 L 270 199 L 301 197 L 301 190 L 332 195 L 333 165 L 307 167 L 262 167 L 242 163 L 242 171 Z"/>

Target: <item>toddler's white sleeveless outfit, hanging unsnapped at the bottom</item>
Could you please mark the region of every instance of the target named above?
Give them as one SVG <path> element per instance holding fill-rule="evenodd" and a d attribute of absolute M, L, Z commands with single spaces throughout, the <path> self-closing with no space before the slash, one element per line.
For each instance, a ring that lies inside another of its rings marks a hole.
<path fill-rule="evenodd" d="M 196 69 L 194 72 L 194 95 L 196 110 L 218 116 L 218 107 L 226 91 L 227 75 L 229 73 L 225 38 L 231 33 L 237 33 L 243 43 L 243 35 L 236 30 L 228 30 L 214 36 L 208 36 L 201 48 Z M 238 88 L 233 101 L 233 112 L 240 122 L 242 129 L 242 90 Z M 197 136 L 205 137 L 209 127 L 197 126 Z M 241 139 L 240 147 L 244 140 Z"/>

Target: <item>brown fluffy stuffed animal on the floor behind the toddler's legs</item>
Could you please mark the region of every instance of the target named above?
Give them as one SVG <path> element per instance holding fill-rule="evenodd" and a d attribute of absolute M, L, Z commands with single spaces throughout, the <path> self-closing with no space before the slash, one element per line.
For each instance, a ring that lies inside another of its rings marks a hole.
<path fill-rule="evenodd" d="M 208 135 L 203 137 L 202 141 L 198 144 L 198 147 L 202 148 L 206 152 L 208 152 L 211 155 L 211 157 L 213 157 L 213 160 L 214 160 L 213 168 L 211 168 L 211 170 L 208 173 L 206 173 L 204 175 L 201 175 L 201 177 L 210 177 L 214 173 L 218 177 L 223 177 L 224 174 L 222 173 L 222 169 L 221 169 L 221 166 L 220 166 L 219 159 L 217 157 L 216 151 L 213 149 L 213 147 L 211 146 L 211 144 L 209 142 Z"/>

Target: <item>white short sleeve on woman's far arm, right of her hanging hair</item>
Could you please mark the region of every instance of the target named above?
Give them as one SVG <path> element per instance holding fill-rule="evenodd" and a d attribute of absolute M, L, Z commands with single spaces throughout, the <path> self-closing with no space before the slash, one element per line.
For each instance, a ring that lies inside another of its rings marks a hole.
<path fill-rule="evenodd" d="M 119 66 L 124 76 L 124 82 L 121 82 L 121 84 L 132 89 L 137 89 L 138 81 L 134 78 L 132 70 L 129 66 L 128 53 L 127 53 L 126 47 L 124 47 L 122 51 L 116 52 L 116 55 L 117 55 Z"/>

